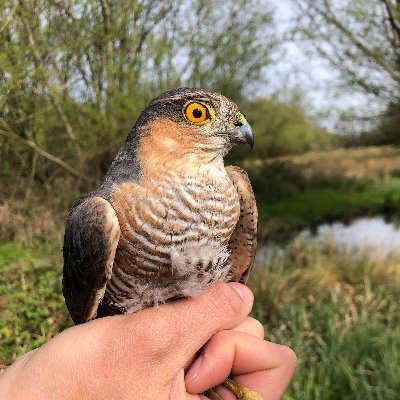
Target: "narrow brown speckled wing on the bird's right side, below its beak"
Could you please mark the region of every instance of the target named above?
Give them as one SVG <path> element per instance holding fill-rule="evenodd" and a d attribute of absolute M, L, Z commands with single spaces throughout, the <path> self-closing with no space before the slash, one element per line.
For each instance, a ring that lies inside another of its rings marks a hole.
<path fill-rule="evenodd" d="M 258 212 L 250 180 L 241 168 L 226 167 L 240 201 L 240 217 L 229 240 L 230 262 L 234 279 L 246 283 L 254 263 L 257 248 Z"/>

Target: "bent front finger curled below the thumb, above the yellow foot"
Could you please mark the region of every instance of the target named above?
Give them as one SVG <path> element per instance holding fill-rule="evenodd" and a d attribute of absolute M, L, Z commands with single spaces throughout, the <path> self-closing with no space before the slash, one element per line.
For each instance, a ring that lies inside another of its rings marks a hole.
<path fill-rule="evenodd" d="M 268 395 L 268 399 L 278 399 L 293 375 L 295 360 L 293 351 L 285 346 L 247 333 L 222 331 L 210 339 L 189 369 L 186 389 L 201 393 L 233 374 L 238 375 L 239 383 Z"/>

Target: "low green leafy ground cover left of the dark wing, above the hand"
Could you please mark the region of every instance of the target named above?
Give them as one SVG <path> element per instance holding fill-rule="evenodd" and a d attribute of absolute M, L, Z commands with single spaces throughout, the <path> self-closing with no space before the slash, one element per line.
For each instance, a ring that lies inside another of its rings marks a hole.
<path fill-rule="evenodd" d="M 0 365 L 69 324 L 61 294 L 61 246 L 0 244 Z"/>

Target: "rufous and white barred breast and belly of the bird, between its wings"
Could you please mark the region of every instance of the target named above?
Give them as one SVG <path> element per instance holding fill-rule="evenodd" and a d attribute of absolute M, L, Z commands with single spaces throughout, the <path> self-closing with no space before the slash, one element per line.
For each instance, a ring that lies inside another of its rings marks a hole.
<path fill-rule="evenodd" d="M 104 298 L 111 309 L 135 312 L 231 279 L 240 206 L 225 170 L 121 183 L 110 201 L 121 229 Z"/>

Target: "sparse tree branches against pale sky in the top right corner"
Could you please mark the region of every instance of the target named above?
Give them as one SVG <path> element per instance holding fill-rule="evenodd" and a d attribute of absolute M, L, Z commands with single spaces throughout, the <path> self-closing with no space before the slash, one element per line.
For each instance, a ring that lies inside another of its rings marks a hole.
<path fill-rule="evenodd" d="M 297 36 L 353 88 L 386 104 L 400 103 L 398 0 L 291 0 Z"/>

